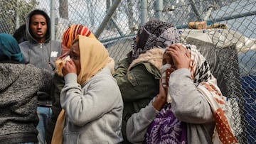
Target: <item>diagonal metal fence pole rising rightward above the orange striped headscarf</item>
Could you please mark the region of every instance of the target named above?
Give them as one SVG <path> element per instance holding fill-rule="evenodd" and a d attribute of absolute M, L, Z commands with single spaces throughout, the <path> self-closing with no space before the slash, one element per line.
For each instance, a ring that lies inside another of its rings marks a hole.
<path fill-rule="evenodd" d="M 112 17 L 114 11 L 117 9 L 117 6 L 120 4 L 121 0 L 115 0 L 112 6 L 110 7 L 110 10 L 107 11 L 107 14 L 105 18 L 103 19 L 102 23 L 100 23 L 100 27 L 97 29 L 95 33 L 95 37 L 99 38 L 100 34 L 104 30 L 104 28 L 107 26 L 107 23 L 110 21 L 110 18 Z"/>

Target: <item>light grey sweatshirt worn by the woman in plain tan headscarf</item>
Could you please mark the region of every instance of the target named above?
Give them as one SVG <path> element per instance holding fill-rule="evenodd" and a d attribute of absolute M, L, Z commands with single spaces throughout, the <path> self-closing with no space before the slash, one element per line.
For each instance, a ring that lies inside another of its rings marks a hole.
<path fill-rule="evenodd" d="M 67 115 L 64 144 L 122 142 L 123 101 L 109 67 L 103 68 L 82 87 L 77 74 L 65 75 L 60 104 Z"/>

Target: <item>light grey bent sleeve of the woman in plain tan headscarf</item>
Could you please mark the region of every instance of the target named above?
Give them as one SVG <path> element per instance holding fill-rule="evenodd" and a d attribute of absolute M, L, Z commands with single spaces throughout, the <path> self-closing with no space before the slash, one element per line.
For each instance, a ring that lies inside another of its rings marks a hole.
<path fill-rule="evenodd" d="M 66 74 L 65 86 L 60 92 L 60 104 L 68 115 L 68 120 L 77 126 L 95 121 L 107 111 L 114 109 L 114 102 L 121 94 L 112 77 L 91 79 L 89 86 L 81 89 L 77 74 Z M 121 106 L 121 104 L 120 104 Z"/>

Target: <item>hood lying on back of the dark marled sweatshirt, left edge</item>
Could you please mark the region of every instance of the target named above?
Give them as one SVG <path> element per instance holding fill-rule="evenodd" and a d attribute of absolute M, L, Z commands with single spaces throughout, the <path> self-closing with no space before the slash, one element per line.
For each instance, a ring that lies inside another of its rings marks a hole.
<path fill-rule="evenodd" d="M 0 63 L 0 91 L 13 84 L 24 69 L 23 64 Z"/>

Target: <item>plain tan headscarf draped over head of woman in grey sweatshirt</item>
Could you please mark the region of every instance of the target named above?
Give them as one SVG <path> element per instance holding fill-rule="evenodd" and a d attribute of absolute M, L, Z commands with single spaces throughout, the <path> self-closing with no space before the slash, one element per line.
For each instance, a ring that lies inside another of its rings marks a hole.
<path fill-rule="evenodd" d="M 85 84 L 109 62 L 109 53 L 99 40 L 78 35 L 81 70 L 78 83 Z"/>

